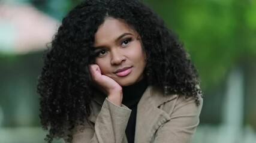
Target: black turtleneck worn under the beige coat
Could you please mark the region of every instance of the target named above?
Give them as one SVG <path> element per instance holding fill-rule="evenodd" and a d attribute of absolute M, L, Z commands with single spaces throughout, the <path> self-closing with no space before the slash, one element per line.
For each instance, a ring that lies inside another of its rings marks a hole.
<path fill-rule="evenodd" d="M 133 85 L 123 87 L 122 104 L 131 109 L 131 116 L 129 117 L 127 128 L 125 130 L 129 143 L 134 142 L 137 105 L 146 88 L 147 80 L 145 78 L 141 79 L 137 83 L 134 83 Z"/>

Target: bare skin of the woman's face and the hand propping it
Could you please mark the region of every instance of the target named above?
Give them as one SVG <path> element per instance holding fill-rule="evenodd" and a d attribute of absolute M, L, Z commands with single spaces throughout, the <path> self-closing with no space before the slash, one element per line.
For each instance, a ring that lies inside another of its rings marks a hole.
<path fill-rule="evenodd" d="M 125 21 L 107 18 L 95 33 L 95 64 L 89 66 L 92 80 L 116 105 L 122 103 L 122 87 L 143 78 L 146 54 L 138 34 Z M 124 72 L 117 72 L 128 68 Z M 124 74 L 122 74 L 124 73 Z"/>

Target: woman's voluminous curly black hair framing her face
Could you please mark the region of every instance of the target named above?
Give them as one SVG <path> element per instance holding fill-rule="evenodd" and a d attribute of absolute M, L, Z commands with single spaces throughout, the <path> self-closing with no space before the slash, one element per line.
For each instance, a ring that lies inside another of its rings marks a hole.
<path fill-rule="evenodd" d="M 159 86 L 165 93 L 194 97 L 200 104 L 197 70 L 158 15 L 137 0 L 86 0 L 62 20 L 44 55 L 37 92 L 41 95 L 41 124 L 49 130 L 48 142 L 67 130 L 71 142 L 71 130 L 91 114 L 93 90 L 88 65 L 94 62 L 91 49 L 95 32 L 107 17 L 124 20 L 140 35 L 149 85 Z"/>

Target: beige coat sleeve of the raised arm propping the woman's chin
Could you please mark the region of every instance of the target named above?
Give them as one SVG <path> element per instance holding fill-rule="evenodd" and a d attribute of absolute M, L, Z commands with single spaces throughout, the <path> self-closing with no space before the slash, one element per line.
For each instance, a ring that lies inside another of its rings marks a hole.
<path fill-rule="evenodd" d="M 85 142 L 116 142 L 121 143 L 125 135 L 125 129 L 129 120 L 131 110 L 125 105 L 119 107 L 109 100 L 103 102 L 101 111 L 95 121 L 94 127 L 85 123 L 81 132 L 76 127 L 73 132 L 73 143 Z M 64 138 L 67 142 L 67 138 Z"/>

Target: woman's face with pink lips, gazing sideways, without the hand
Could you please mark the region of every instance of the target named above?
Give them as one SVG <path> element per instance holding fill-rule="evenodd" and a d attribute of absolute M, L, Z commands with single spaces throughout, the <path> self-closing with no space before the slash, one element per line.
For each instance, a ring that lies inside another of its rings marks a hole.
<path fill-rule="evenodd" d="M 121 86 L 143 78 L 146 54 L 138 33 L 123 20 L 107 18 L 95 33 L 95 64 Z"/>

